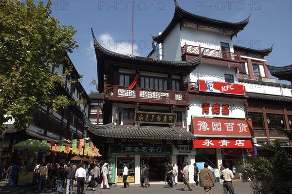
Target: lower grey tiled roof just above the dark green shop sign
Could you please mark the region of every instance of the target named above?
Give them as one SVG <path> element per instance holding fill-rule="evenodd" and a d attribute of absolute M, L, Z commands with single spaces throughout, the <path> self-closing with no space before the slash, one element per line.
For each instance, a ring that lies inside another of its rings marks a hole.
<path fill-rule="evenodd" d="M 194 134 L 183 129 L 171 129 L 168 127 L 136 127 L 107 125 L 94 125 L 85 116 L 87 130 L 92 134 L 111 138 L 128 139 L 169 139 L 169 140 L 196 140 Z"/>

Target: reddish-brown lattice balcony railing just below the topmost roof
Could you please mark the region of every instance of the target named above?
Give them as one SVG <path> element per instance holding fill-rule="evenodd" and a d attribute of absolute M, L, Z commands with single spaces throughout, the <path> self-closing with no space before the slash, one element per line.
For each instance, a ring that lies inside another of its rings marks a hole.
<path fill-rule="evenodd" d="M 201 55 L 202 51 L 205 49 L 203 56 L 208 56 L 210 58 L 219 58 L 234 62 L 241 62 L 241 57 L 239 53 L 231 53 L 229 51 L 221 51 L 209 48 L 203 48 L 201 46 L 192 46 L 185 44 L 182 47 L 182 58 L 185 59 L 185 55 Z"/>

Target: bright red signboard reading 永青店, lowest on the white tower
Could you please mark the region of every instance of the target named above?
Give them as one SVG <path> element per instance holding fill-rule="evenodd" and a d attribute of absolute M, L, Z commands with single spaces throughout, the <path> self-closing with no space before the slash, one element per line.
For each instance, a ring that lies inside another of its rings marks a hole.
<path fill-rule="evenodd" d="M 193 140 L 194 148 L 253 148 L 253 139 L 239 138 L 198 138 Z"/>

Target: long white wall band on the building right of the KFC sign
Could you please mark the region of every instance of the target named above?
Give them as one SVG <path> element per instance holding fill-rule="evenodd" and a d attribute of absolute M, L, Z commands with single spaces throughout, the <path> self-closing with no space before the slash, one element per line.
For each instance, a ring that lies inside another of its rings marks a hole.
<path fill-rule="evenodd" d="M 259 94 L 270 94 L 270 95 L 278 95 L 281 96 L 281 87 L 279 86 L 267 86 L 267 85 L 261 85 L 261 84 L 254 84 L 254 83 L 246 83 L 242 82 L 240 84 L 243 84 L 245 86 L 246 92 L 253 92 L 253 93 L 259 93 Z M 290 88 L 282 88 L 283 95 L 285 97 L 292 97 L 291 89 Z"/>

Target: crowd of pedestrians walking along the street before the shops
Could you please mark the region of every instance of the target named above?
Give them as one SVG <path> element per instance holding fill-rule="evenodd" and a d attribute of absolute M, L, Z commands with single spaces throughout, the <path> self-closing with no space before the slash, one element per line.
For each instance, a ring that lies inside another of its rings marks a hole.
<path fill-rule="evenodd" d="M 194 181 L 195 187 L 201 186 L 204 188 L 205 194 L 210 194 L 212 187 L 215 186 L 214 174 L 207 162 L 204 163 L 204 168 L 199 171 L 197 164 L 194 163 Z M 37 182 L 37 193 L 48 189 L 55 191 L 56 194 L 60 194 L 62 187 L 66 187 L 66 194 L 73 194 L 73 188 L 76 188 L 77 194 L 83 194 L 84 184 L 88 180 L 88 186 L 85 187 L 86 190 L 95 190 L 100 184 L 101 189 L 110 189 L 108 178 L 109 178 L 109 164 L 104 163 L 102 168 L 99 162 L 83 164 L 51 164 L 44 163 L 36 164 L 34 168 L 34 177 L 36 177 Z M 123 183 L 124 188 L 128 188 L 130 183 L 127 182 L 128 177 L 128 164 L 123 164 Z M 230 170 L 231 169 L 231 170 Z M 232 180 L 235 176 L 235 166 L 230 165 L 226 162 L 220 164 L 220 184 L 223 184 L 224 194 L 234 194 L 234 188 L 232 185 Z M 9 174 L 6 178 L 9 178 L 9 186 L 16 186 L 18 174 L 20 167 L 18 164 L 12 164 L 8 170 Z M 141 169 L 141 179 L 140 187 L 149 187 L 148 182 L 148 167 L 145 164 Z M 185 186 L 188 187 L 188 191 L 193 191 L 189 183 L 189 166 L 187 163 L 183 163 L 183 169 L 180 170 L 183 175 L 183 187 L 180 189 L 184 191 Z M 179 174 L 179 169 L 176 164 L 168 163 L 166 171 L 166 182 L 169 188 L 173 188 L 177 184 L 176 177 Z M 198 181 L 199 176 L 199 181 Z"/>

